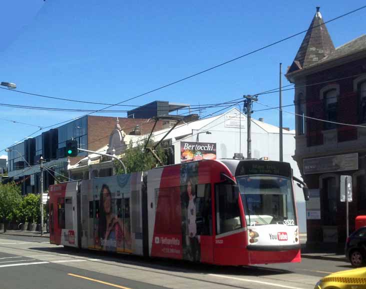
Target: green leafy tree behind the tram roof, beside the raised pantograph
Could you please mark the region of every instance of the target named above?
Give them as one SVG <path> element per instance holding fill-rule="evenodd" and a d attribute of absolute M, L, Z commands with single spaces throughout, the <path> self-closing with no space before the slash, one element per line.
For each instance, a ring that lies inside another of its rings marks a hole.
<path fill-rule="evenodd" d="M 127 173 L 149 170 L 153 167 L 159 165 L 158 161 L 153 157 L 152 153 L 144 150 L 146 141 L 143 144 L 138 144 L 136 146 L 132 146 L 132 142 L 130 142 L 125 150 L 124 155 L 122 156 L 122 161 L 126 166 Z M 152 147 L 154 145 L 154 141 L 150 139 L 148 142 L 148 147 Z M 160 158 L 163 164 L 166 164 L 167 157 L 165 153 L 165 149 L 158 145 L 155 148 L 155 153 Z M 122 165 L 119 161 L 114 161 L 116 173 L 124 173 Z"/>

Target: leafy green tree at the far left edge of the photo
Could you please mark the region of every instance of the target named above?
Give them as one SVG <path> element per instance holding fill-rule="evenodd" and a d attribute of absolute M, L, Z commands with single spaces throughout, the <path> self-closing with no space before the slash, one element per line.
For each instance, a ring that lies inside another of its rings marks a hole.
<path fill-rule="evenodd" d="M 11 221 L 18 217 L 18 205 L 21 201 L 20 187 L 14 182 L 0 183 L 0 220 Z"/>

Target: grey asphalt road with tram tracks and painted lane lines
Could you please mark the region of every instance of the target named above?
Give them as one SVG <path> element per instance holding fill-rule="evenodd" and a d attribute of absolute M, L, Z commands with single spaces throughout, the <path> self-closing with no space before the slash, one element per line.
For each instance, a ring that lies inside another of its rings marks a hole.
<path fill-rule="evenodd" d="M 20 288 L 313 288 L 343 261 L 222 267 L 75 250 L 46 238 L 0 235 L 2 289 Z"/>

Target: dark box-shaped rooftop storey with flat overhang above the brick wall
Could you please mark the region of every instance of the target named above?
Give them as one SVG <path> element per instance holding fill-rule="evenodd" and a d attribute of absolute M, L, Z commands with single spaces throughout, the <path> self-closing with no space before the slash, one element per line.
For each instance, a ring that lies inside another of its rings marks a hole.
<path fill-rule="evenodd" d="M 176 113 L 178 113 L 179 109 L 187 107 L 189 107 L 189 104 L 155 100 L 150 103 L 129 110 L 127 112 L 127 117 L 151 118 L 154 116 L 163 116 L 163 115 L 166 116 L 169 115 L 169 113 L 172 111 L 176 111 Z M 187 110 L 185 109 L 184 112 L 187 112 Z"/>

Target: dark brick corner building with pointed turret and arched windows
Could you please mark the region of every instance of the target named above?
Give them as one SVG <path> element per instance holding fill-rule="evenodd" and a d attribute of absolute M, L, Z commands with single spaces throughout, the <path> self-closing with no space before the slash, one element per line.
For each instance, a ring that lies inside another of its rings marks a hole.
<path fill-rule="evenodd" d="M 366 35 L 335 48 L 317 7 L 286 77 L 295 84 L 294 159 L 310 189 L 307 240 L 344 245 L 340 175 L 352 177 L 350 231 L 366 214 Z"/>

